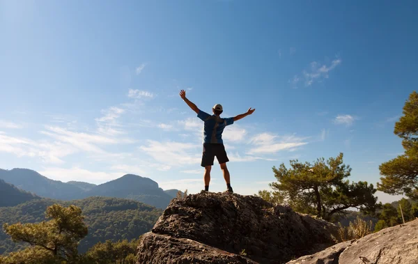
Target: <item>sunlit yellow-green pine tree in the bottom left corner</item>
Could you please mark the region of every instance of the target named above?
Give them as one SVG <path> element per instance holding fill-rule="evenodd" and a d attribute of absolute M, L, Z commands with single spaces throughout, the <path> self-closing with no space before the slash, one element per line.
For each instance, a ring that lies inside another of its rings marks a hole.
<path fill-rule="evenodd" d="M 82 210 L 75 205 L 65 208 L 54 204 L 47 208 L 46 217 L 50 220 L 38 224 L 3 225 L 14 242 L 31 245 L 10 254 L 6 263 L 74 262 L 77 259 L 79 241 L 88 232 Z"/>

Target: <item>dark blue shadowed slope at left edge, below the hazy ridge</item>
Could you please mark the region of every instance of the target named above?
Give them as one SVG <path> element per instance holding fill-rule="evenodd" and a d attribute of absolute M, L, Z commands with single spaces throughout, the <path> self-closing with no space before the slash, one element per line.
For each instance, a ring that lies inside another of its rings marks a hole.
<path fill-rule="evenodd" d="M 33 199 L 40 199 L 40 197 L 0 180 L 0 207 L 15 206 Z"/>

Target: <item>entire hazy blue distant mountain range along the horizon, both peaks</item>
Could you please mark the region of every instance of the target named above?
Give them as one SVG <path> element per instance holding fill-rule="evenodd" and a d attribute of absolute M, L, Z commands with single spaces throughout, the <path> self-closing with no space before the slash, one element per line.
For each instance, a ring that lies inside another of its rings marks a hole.
<path fill-rule="evenodd" d="M 63 183 L 51 180 L 31 169 L 0 169 L 0 179 L 19 189 L 41 197 L 60 200 L 84 199 L 90 196 L 109 196 L 133 199 L 165 209 L 177 190 L 164 192 L 158 183 L 150 178 L 127 174 L 101 185 L 71 181 Z"/>

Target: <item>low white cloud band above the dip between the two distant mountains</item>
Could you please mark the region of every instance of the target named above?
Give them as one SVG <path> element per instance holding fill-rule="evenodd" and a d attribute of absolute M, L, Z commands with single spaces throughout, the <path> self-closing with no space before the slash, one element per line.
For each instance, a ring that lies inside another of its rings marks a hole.
<path fill-rule="evenodd" d="M 121 172 L 108 173 L 104 171 L 88 171 L 74 166 L 71 169 L 64 169 L 58 167 L 48 167 L 39 171 L 40 174 L 53 180 L 61 180 L 68 182 L 70 180 L 83 181 L 88 183 L 106 183 L 109 180 L 114 180 L 123 176 Z"/>

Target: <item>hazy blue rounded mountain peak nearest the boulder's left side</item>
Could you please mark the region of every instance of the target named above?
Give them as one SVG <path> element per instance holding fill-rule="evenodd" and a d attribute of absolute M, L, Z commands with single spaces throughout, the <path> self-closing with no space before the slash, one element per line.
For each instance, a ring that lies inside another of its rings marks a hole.
<path fill-rule="evenodd" d="M 172 196 L 166 194 L 158 187 L 158 183 L 150 178 L 126 174 L 116 180 L 111 180 L 96 187 L 84 194 L 88 196 L 109 196 L 140 201 L 156 208 L 165 209 L 169 205 Z"/>

